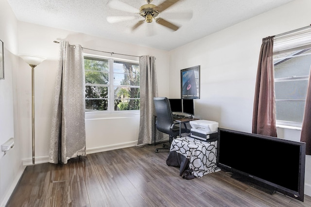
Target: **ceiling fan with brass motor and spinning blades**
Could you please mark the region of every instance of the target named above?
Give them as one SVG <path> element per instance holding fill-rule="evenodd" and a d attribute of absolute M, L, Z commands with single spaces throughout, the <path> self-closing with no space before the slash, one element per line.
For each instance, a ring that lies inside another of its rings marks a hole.
<path fill-rule="evenodd" d="M 180 0 L 165 0 L 163 3 L 160 5 L 156 6 L 154 4 L 151 4 L 153 0 L 146 0 L 147 4 L 142 5 L 139 10 L 136 9 L 135 7 L 132 7 L 120 0 L 110 0 L 108 2 L 108 6 L 112 9 L 120 10 L 120 11 L 125 11 L 125 12 L 130 12 L 134 14 L 138 14 L 139 16 L 143 17 L 143 20 L 138 21 L 133 27 L 132 31 L 137 29 L 140 25 L 143 23 L 151 23 L 153 20 L 155 20 L 156 23 L 163 25 L 173 31 L 176 31 L 179 29 L 179 27 L 161 17 L 157 17 L 161 12 L 166 10 L 167 8 L 171 7 L 173 4 L 177 3 Z M 189 15 L 184 14 L 184 17 L 189 17 Z M 192 13 L 191 13 L 192 17 Z M 116 22 L 121 22 L 121 21 L 126 21 L 126 20 L 134 20 L 138 19 L 137 16 L 107 16 L 107 21 L 109 23 L 116 23 Z"/>

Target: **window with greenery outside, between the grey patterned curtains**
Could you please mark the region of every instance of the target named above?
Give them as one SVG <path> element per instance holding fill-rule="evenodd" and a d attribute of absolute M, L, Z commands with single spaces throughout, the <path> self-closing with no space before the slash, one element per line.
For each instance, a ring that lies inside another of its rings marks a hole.
<path fill-rule="evenodd" d="M 101 57 L 84 57 L 86 111 L 139 110 L 139 64 Z"/>

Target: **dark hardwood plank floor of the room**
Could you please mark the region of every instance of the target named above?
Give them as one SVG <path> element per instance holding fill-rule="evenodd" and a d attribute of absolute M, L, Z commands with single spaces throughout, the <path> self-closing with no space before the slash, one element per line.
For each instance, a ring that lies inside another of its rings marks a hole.
<path fill-rule="evenodd" d="M 311 207 L 249 187 L 224 171 L 185 180 L 168 151 L 129 147 L 27 166 L 7 207 Z"/>

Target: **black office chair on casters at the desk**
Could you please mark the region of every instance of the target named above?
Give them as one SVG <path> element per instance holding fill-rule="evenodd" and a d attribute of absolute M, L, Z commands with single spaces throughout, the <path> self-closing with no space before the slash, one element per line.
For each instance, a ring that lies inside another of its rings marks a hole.
<path fill-rule="evenodd" d="M 156 129 L 169 135 L 169 145 L 163 144 L 162 148 L 156 148 L 155 152 L 158 152 L 160 149 L 170 149 L 173 139 L 179 135 L 179 123 L 174 123 L 173 113 L 168 98 L 155 97 L 154 102 L 157 117 L 155 122 Z M 184 127 L 181 128 L 181 133 L 189 133 L 189 132 L 190 130 L 184 123 Z"/>

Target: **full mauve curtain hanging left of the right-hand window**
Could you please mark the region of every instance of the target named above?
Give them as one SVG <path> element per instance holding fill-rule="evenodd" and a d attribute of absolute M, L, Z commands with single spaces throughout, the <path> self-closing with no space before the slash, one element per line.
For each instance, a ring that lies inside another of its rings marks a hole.
<path fill-rule="evenodd" d="M 262 39 L 255 86 L 252 132 L 276 137 L 273 41 L 273 36 Z"/>

